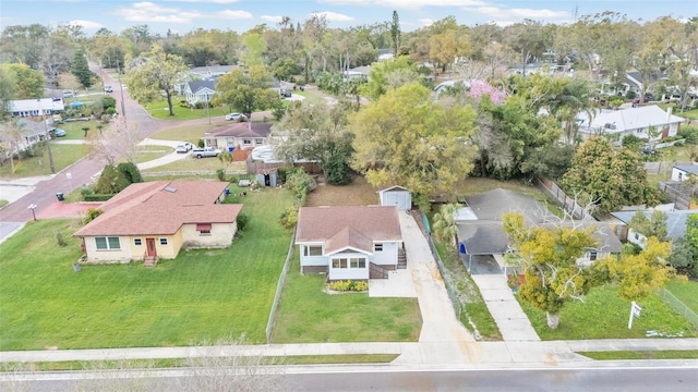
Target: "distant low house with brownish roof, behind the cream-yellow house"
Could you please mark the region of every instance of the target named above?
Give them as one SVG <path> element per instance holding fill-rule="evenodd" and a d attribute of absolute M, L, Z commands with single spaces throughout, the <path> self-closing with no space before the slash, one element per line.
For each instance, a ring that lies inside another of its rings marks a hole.
<path fill-rule="evenodd" d="M 232 152 L 234 149 L 252 150 L 254 147 L 266 145 L 270 134 L 270 123 L 233 122 L 206 132 L 203 139 L 206 146 Z"/>

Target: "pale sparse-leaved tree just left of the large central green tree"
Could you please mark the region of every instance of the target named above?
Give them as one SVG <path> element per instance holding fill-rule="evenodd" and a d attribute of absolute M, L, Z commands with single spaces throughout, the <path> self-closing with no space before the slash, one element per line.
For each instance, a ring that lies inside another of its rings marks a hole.
<path fill-rule="evenodd" d="M 328 183 L 347 184 L 353 152 L 347 113 L 341 105 L 291 105 L 279 124 L 282 137 L 275 138 L 275 154 L 289 163 L 297 159 L 317 161 Z"/>

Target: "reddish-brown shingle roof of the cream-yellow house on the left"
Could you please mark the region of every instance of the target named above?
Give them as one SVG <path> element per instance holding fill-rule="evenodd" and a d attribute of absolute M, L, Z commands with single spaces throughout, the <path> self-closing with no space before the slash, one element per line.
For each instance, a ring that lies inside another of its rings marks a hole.
<path fill-rule="evenodd" d="M 74 235 L 168 235 L 185 223 L 232 223 L 242 205 L 216 204 L 227 186 L 186 180 L 131 184 Z"/>

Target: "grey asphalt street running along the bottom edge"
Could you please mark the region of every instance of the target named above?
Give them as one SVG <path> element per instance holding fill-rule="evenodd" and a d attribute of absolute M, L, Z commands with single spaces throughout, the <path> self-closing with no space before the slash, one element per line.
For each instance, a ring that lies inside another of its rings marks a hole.
<path fill-rule="evenodd" d="M 698 369 L 671 367 L 586 368 L 586 369 L 492 369 L 435 371 L 341 371 L 289 372 L 264 377 L 252 389 L 274 391 L 633 391 L 695 392 Z M 80 373 L 51 372 L 37 375 L 36 380 L 0 382 L 3 390 L 34 392 L 71 390 L 146 390 L 146 391 L 213 391 L 240 390 L 240 379 L 225 379 L 220 373 L 206 373 L 206 381 L 193 381 L 181 370 L 167 370 L 165 378 L 134 380 L 125 377 L 89 380 Z M 39 378 L 40 376 L 40 378 Z M 250 384 L 248 384 L 250 387 Z M 258 387 L 258 388 L 255 388 Z"/>

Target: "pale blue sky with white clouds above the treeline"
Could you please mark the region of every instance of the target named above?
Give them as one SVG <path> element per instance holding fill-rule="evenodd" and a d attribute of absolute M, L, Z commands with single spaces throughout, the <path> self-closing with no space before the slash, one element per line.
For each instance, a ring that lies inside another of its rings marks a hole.
<path fill-rule="evenodd" d="M 389 22 L 394 10 L 400 28 L 410 32 L 450 15 L 468 26 L 507 25 L 525 19 L 563 24 L 575 15 L 603 11 L 635 21 L 685 19 L 698 16 L 698 0 L 0 0 L 0 29 L 34 23 L 80 24 L 92 35 L 100 27 L 120 33 L 147 24 L 154 34 L 196 28 L 244 33 L 260 24 L 276 28 L 281 16 L 302 24 L 313 13 L 324 14 L 329 27 L 347 28 Z"/>

